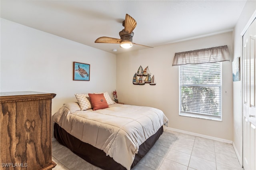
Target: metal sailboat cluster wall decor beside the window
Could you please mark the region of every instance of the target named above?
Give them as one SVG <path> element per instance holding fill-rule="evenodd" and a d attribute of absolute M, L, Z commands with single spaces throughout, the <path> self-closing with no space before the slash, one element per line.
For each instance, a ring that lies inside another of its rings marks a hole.
<path fill-rule="evenodd" d="M 144 85 L 146 83 L 148 83 L 149 85 L 156 85 L 156 80 L 154 75 L 151 78 L 151 73 L 148 69 L 148 66 L 145 69 L 143 69 L 142 66 L 140 65 L 138 71 L 133 76 L 132 83 L 134 85 Z"/>

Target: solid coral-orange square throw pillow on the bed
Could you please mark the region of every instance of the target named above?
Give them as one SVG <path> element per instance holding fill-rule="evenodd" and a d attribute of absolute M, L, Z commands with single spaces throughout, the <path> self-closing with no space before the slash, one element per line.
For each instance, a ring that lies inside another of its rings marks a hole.
<path fill-rule="evenodd" d="M 89 93 L 88 95 L 91 99 L 91 103 L 92 103 L 94 111 L 96 111 L 98 109 L 105 109 L 108 107 L 108 103 L 107 103 L 103 93 L 101 93 L 101 94 Z"/>

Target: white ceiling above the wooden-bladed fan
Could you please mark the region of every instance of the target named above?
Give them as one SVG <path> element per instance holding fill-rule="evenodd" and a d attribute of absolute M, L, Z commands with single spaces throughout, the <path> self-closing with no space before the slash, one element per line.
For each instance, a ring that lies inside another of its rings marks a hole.
<path fill-rule="evenodd" d="M 111 53 L 145 49 L 94 43 L 120 38 L 125 14 L 137 26 L 133 42 L 151 47 L 230 31 L 246 0 L 1 0 L 1 18 Z M 118 51 L 113 52 L 112 49 Z"/>

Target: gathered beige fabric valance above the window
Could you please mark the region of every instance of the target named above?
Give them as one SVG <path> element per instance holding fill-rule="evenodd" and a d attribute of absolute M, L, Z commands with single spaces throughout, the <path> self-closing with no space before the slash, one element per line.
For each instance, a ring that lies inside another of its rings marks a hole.
<path fill-rule="evenodd" d="M 215 63 L 220 61 L 229 61 L 227 45 L 175 53 L 172 65 Z"/>

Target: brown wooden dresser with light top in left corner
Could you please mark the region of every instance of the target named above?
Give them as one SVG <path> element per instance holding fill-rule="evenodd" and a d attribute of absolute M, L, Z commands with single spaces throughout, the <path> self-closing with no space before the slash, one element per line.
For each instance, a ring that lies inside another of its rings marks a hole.
<path fill-rule="evenodd" d="M 49 170 L 53 93 L 0 93 L 0 170 Z"/>

